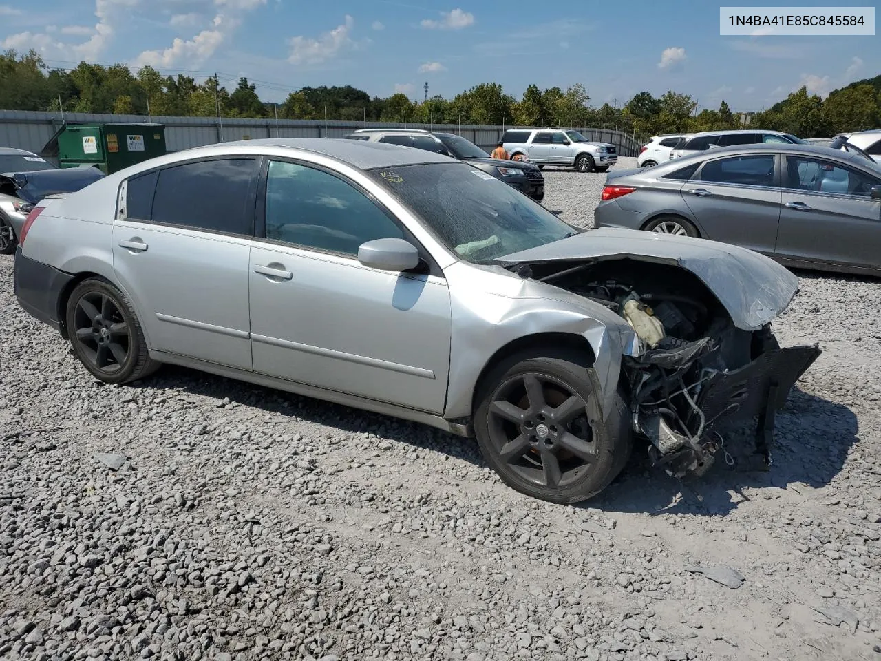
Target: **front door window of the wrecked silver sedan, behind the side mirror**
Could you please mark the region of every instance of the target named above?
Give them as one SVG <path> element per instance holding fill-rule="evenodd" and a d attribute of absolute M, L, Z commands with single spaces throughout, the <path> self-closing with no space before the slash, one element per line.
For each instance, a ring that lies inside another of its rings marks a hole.
<path fill-rule="evenodd" d="M 266 182 L 266 238 L 355 256 L 374 239 L 402 239 L 364 193 L 315 167 L 273 160 Z"/>

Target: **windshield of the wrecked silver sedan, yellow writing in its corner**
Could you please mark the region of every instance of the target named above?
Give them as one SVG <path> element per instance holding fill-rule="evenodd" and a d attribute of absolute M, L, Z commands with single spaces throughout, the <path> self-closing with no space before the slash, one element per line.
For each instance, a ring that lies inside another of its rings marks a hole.
<path fill-rule="evenodd" d="M 370 170 L 448 248 L 475 264 L 576 234 L 543 206 L 465 163 Z"/>

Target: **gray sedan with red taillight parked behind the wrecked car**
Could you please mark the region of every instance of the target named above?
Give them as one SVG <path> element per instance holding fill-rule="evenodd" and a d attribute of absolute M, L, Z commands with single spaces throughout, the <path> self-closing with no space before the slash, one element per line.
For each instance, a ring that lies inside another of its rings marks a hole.
<path fill-rule="evenodd" d="M 596 227 L 733 243 L 792 267 L 881 275 L 881 167 L 814 145 L 742 145 L 611 173 Z"/>

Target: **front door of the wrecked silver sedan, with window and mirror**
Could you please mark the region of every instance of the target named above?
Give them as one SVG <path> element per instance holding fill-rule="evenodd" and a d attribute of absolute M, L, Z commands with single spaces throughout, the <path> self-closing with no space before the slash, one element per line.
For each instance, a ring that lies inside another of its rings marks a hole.
<path fill-rule="evenodd" d="M 255 372 L 443 412 L 446 280 L 440 271 L 380 271 L 357 259 L 365 241 L 413 241 L 398 221 L 339 175 L 275 160 L 264 225 L 249 269 Z"/>

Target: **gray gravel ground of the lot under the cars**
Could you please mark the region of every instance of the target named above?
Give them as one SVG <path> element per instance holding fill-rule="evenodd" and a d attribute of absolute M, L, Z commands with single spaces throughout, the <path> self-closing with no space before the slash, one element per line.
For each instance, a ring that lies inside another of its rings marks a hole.
<path fill-rule="evenodd" d="M 605 176 L 545 175 L 589 227 Z M 825 353 L 771 472 L 634 453 L 573 508 L 428 427 L 178 368 L 101 385 L 0 256 L 0 658 L 881 659 L 881 281 L 799 275 L 775 328 Z M 686 570 L 720 565 L 745 582 Z"/>

